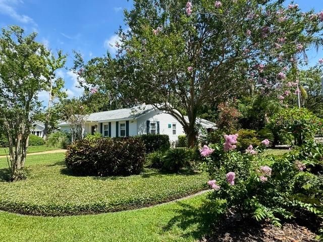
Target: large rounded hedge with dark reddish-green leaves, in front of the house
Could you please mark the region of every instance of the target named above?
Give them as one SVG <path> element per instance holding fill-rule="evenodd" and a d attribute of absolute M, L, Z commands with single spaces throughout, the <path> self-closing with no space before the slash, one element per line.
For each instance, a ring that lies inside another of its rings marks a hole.
<path fill-rule="evenodd" d="M 68 147 L 65 163 L 77 175 L 139 174 L 145 161 L 140 138 L 83 139 Z"/>

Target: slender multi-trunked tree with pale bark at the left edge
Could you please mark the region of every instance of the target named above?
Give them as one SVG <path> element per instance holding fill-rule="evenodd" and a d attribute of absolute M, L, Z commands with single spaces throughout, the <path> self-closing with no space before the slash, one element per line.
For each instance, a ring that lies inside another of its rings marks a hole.
<path fill-rule="evenodd" d="M 12 180 L 24 176 L 28 138 L 41 107 L 37 94 L 47 85 L 45 48 L 36 35 L 18 26 L 0 35 L 0 125 L 9 142 Z"/>

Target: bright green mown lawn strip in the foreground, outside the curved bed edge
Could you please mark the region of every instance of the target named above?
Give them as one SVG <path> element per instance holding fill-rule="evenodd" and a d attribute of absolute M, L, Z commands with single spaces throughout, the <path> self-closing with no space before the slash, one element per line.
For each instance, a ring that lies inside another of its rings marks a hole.
<path fill-rule="evenodd" d="M 0 212 L 0 241 L 196 241 L 207 233 L 199 217 L 206 195 L 139 210 L 70 217 Z"/>

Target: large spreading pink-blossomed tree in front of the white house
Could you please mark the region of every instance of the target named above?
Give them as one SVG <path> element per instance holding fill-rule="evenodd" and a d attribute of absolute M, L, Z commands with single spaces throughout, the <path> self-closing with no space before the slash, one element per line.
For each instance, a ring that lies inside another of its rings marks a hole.
<path fill-rule="evenodd" d="M 119 30 L 122 95 L 174 115 L 189 146 L 205 104 L 278 90 L 305 51 L 321 44 L 323 14 L 266 0 L 134 0 Z M 188 119 L 185 118 L 188 116 Z"/>

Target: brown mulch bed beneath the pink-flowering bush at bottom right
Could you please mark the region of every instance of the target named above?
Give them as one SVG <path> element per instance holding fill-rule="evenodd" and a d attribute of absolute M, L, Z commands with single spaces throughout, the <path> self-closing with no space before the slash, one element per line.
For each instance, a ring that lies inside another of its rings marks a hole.
<path fill-rule="evenodd" d="M 296 223 L 284 223 L 282 228 L 272 224 L 250 224 L 249 222 L 226 224 L 217 228 L 200 242 L 312 242 L 315 233 Z"/>

